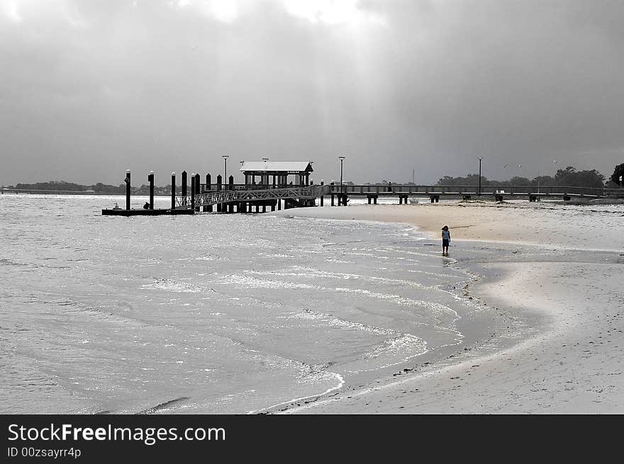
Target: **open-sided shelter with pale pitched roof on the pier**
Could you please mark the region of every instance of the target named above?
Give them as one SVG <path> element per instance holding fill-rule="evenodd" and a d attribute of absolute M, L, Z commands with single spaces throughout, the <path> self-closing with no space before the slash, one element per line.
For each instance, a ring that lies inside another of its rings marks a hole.
<path fill-rule="evenodd" d="M 245 175 L 245 186 L 284 188 L 310 185 L 310 161 L 243 161 L 240 171 Z"/>

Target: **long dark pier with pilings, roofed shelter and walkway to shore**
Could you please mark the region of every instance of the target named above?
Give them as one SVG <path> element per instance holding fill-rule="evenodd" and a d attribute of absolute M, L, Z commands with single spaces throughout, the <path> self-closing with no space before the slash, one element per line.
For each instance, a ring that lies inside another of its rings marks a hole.
<path fill-rule="evenodd" d="M 102 215 L 187 215 L 196 213 L 266 213 L 289 208 L 316 206 L 317 200 L 323 206 L 329 200 L 330 206 L 345 206 L 350 198 L 367 198 L 376 205 L 381 197 L 397 198 L 399 205 L 407 205 L 410 198 L 428 198 L 430 203 L 439 203 L 440 198 L 472 200 L 491 199 L 497 202 L 525 198 L 530 202 L 543 198 L 564 201 L 572 198 L 602 198 L 616 193 L 618 189 L 585 188 L 573 186 L 417 186 L 414 184 L 383 185 L 337 185 L 334 182 L 314 185 L 310 180 L 313 171 L 311 162 L 241 162 L 240 171 L 245 183 L 234 183 L 234 176 L 219 174 L 216 183 L 211 183 L 211 174 L 206 174 L 201 183 L 200 174 L 189 176 L 182 171 L 181 194 L 176 191 L 176 175 L 172 173 L 171 207 L 154 208 L 154 177 L 150 172 L 150 201 L 143 209 L 130 208 L 131 176 L 126 171 L 126 208 L 102 210 Z M 292 179 L 292 180 L 290 180 Z M 611 190 L 614 190 L 611 192 Z"/>

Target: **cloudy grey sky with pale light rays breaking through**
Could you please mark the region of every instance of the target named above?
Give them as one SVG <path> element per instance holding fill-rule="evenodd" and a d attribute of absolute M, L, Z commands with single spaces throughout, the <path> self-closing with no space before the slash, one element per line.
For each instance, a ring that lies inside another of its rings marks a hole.
<path fill-rule="evenodd" d="M 623 56 L 620 0 L 0 0 L 0 183 L 608 177 Z"/>

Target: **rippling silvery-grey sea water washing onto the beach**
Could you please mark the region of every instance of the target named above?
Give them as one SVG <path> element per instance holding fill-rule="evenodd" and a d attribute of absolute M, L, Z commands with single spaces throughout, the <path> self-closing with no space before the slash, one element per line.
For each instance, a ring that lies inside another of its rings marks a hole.
<path fill-rule="evenodd" d="M 405 225 L 102 216 L 115 201 L 0 196 L 0 413 L 262 412 L 495 324 L 462 296 L 472 276 Z"/>

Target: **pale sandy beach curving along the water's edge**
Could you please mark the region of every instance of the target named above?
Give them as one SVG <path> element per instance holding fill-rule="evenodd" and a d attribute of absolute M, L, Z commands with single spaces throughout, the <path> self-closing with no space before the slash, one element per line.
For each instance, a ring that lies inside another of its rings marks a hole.
<path fill-rule="evenodd" d="M 624 212 L 621 205 L 592 208 L 458 202 L 278 213 L 401 222 L 432 242 L 447 224 L 450 254 L 457 258 L 452 266 L 475 276 L 464 297 L 500 312 L 510 326 L 474 349 L 273 412 L 624 412 Z M 468 256 L 468 244 L 492 259 Z M 516 326 L 523 327 L 522 336 Z"/>

